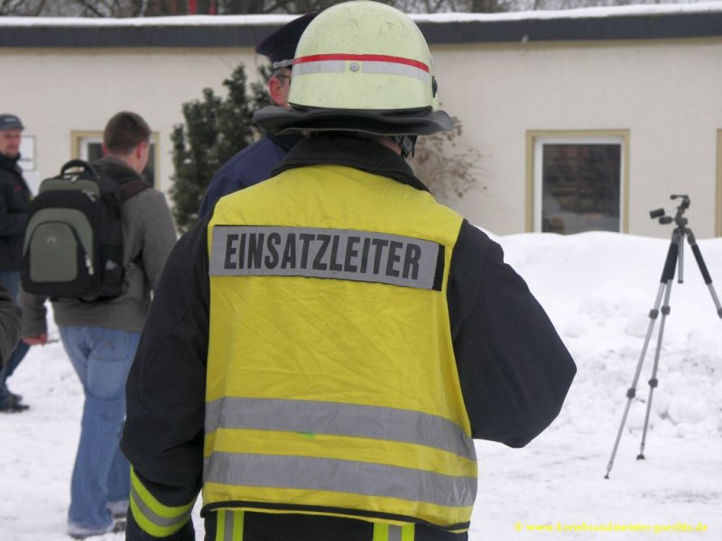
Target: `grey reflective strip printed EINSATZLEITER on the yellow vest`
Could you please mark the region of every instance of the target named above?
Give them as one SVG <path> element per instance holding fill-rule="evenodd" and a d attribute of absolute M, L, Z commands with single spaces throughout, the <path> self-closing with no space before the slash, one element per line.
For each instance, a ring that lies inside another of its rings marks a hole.
<path fill-rule="evenodd" d="M 440 289 L 443 276 L 440 255 L 443 249 L 439 243 L 397 234 L 319 227 L 216 225 L 209 273 L 304 276 Z"/>

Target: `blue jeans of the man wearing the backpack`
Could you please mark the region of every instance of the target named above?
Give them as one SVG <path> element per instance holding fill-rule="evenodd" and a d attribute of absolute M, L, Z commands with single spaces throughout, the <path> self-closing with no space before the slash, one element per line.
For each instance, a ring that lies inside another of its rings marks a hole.
<path fill-rule="evenodd" d="M 107 502 L 127 500 L 130 493 L 130 465 L 118 443 L 125 420 L 125 380 L 140 333 L 95 326 L 59 331 L 85 392 L 68 519 L 100 529 L 112 520 Z"/>

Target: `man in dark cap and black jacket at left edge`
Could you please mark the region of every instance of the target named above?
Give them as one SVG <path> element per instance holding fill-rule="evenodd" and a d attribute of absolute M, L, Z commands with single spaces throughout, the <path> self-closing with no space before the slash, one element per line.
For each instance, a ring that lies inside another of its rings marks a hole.
<path fill-rule="evenodd" d="M 16 115 L 0 114 L 0 284 L 15 302 L 20 289 L 25 225 L 30 213 L 30 188 L 17 163 L 24 128 Z M 6 382 L 27 351 L 27 344 L 17 344 L 0 369 L 0 412 L 28 409 L 23 397 L 11 392 Z"/>

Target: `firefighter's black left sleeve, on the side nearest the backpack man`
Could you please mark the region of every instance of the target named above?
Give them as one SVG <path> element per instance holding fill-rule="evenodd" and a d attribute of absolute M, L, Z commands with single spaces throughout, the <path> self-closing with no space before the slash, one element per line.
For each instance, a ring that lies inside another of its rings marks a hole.
<path fill-rule="evenodd" d="M 208 355 L 206 226 L 204 221 L 183 235 L 163 268 L 125 389 L 121 449 L 143 486 L 166 506 L 195 500 L 201 487 Z M 192 539 L 192 529 L 189 533 L 186 528 L 185 535 Z M 147 537 L 129 519 L 126 538 Z"/>

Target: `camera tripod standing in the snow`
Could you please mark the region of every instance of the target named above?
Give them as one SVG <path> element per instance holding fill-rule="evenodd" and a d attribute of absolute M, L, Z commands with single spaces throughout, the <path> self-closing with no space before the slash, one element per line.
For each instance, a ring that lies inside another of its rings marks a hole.
<path fill-rule="evenodd" d="M 622 416 L 622 422 L 619 425 L 619 430 L 616 433 L 616 441 L 614 449 L 612 450 L 612 455 L 609 457 L 609 463 L 606 465 L 606 475 L 605 478 L 609 479 L 609 472 L 612 471 L 612 466 L 615 462 L 615 456 L 616 456 L 616 450 L 619 446 L 619 440 L 622 439 L 622 431 L 625 427 L 626 417 L 629 414 L 629 408 L 632 405 L 632 400 L 636 396 L 636 388 L 637 388 L 637 382 L 639 381 L 639 375 L 642 371 L 642 365 L 644 362 L 644 357 L 646 357 L 647 354 L 647 347 L 649 346 L 650 339 L 652 338 L 652 333 L 654 329 L 654 324 L 656 323 L 657 317 L 660 315 L 660 305 L 662 305 L 662 299 L 664 304 L 662 305 L 662 319 L 660 321 L 660 331 L 659 335 L 657 335 L 657 345 L 654 352 L 654 364 L 652 368 L 652 378 L 649 381 L 649 398 L 647 399 L 647 411 L 644 415 L 644 428 L 642 432 L 642 444 L 639 448 L 639 454 L 637 455 L 637 460 L 644 460 L 644 445 L 646 442 L 647 437 L 647 428 L 649 427 L 649 416 L 650 412 L 652 411 L 652 398 L 654 389 L 657 387 L 657 384 L 659 381 L 657 380 L 657 369 L 659 368 L 659 362 L 660 362 L 660 352 L 662 351 L 662 335 L 664 334 L 664 322 L 670 314 L 670 293 L 671 293 L 671 283 L 672 280 L 674 280 L 674 273 L 675 269 L 679 269 L 678 273 L 678 283 L 682 283 L 684 281 L 684 239 L 687 238 L 688 243 L 690 243 L 690 247 L 692 249 L 692 252 L 694 253 L 694 258 L 697 260 L 697 265 L 699 267 L 699 271 L 702 273 L 702 278 L 705 280 L 705 284 L 707 284 L 707 287 L 709 289 L 709 293 L 712 295 L 712 300 L 715 303 L 715 307 L 717 307 L 717 316 L 722 317 L 722 307 L 719 305 L 719 298 L 717 298 L 717 292 L 715 291 L 714 286 L 712 285 L 712 279 L 709 277 L 709 272 L 707 270 L 707 265 L 705 264 L 704 259 L 702 258 L 702 252 L 699 251 L 699 246 L 697 245 L 697 241 L 694 237 L 694 234 L 692 233 L 692 230 L 687 226 L 688 220 L 687 218 L 683 217 L 684 211 L 687 210 L 690 207 L 690 197 L 688 196 L 680 196 L 680 195 L 672 195 L 670 197 L 671 199 L 678 199 L 681 198 L 680 206 L 677 207 L 677 213 L 674 217 L 665 215 L 663 208 L 658 208 L 656 210 L 653 210 L 649 213 L 650 217 L 652 219 L 658 219 L 659 223 L 662 225 L 671 224 L 674 222 L 676 227 L 674 228 L 674 231 L 672 231 L 671 234 L 671 243 L 669 251 L 667 252 L 667 260 L 664 262 L 664 269 L 662 271 L 662 280 L 660 283 L 660 288 L 657 291 L 657 298 L 654 301 L 654 307 L 652 310 L 650 310 L 649 313 L 649 327 L 647 328 L 647 334 L 644 336 L 644 344 L 642 346 L 642 353 L 639 356 L 639 362 L 637 362 L 637 368 L 636 371 L 634 371 L 634 380 L 632 381 L 632 386 L 626 391 L 626 407 L 625 407 L 625 413 Z"/>

